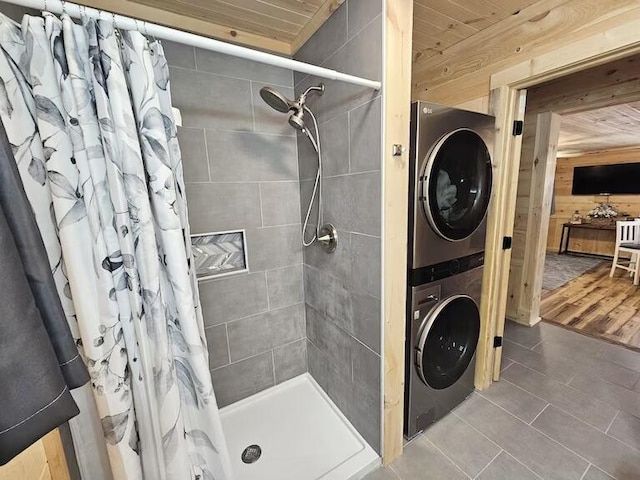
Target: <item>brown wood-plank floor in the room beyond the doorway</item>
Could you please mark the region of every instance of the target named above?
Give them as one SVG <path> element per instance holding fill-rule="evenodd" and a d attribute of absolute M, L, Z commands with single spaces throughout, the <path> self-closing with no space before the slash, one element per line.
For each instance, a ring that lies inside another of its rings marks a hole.
<path fill-rule="evenodd" d="M 640 288 L 610 263 L 542 293 L 541 317 L 593 337 L 640 351 Z"/>

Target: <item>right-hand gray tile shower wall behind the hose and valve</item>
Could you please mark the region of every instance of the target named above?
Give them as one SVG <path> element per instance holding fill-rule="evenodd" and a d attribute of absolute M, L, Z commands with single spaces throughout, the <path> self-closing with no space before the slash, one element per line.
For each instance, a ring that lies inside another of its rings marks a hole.
<path fill-rule="evenodd" d="M 348 0 L 294 58 L 379 80 L 382 25 L 381 0 Z M 382 99 L 342 82 L 294 78 L 296 94 L 326 86 L 308 105 L 320 121 L 324 219 L 339 238 L 332 255 L 317 245 L 304 250 L 309 372 L 380 452 Z M 317 157 L 306 137 L 297 141 L 304 215 Z"/>

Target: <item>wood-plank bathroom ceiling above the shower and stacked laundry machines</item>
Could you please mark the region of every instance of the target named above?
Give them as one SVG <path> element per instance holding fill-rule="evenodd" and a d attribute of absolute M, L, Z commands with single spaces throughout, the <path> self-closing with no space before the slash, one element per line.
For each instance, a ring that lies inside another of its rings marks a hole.
<path fill-rule="evenodd" d="M 80 0 L 194 33 L 295 53 L 345 0 Z M 360 0 L 373 1 L 373 0 Z M 538 0 L 415 0 L 414 61 L 423 62 Z"/>

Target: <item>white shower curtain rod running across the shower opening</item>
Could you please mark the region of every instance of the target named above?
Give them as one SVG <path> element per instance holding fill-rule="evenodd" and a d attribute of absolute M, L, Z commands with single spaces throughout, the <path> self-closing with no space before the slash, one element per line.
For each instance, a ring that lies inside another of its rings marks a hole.
<path fill-rule="evenodd" d="M 271 53 L 253 50 L 247 47 L 241 47 L 232 43 L 222 42 L 213 38 L 195 35 L 193 33 L 176 30 L 174 28 L 163 27 L 155 23 L 149 23 L 144 20 L 137 20 L 131 17 L 125 17 L 117 13 L 98 10 L 91 7 L 85 7 L 76 3 L 70 3 L 62 0 L 3 0 L 6 3 L 29 7 L 37 10 L 43 10 L 55 14 L 66 13 L 75 18 L 88 17 L 96 20 L 110 20 L 123 30 L 137 30 L 145 35 L 150 35 L 162 40 L 170 40 L 193 47 L 211 50 L 234 57 L 246 58 L 254 62 L 273 65 L 274 67 L 286 68 L 295 72 L 307 73 L 317 77 L 328 78 L 330 80 L 339 80 L 354 85 L 360 85 L 374 90 L 380 90 L 382 84 L 375 80 L 356 77 L 346 73 L 337 72 L 329 68 L 319 67 L 310 63 L 299 62 L 291 58 L 280 57 Z"/>

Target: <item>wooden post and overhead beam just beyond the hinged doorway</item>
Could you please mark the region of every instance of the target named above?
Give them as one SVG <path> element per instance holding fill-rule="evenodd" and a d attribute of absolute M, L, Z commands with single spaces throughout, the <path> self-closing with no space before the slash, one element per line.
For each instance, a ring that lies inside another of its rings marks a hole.
<path fill-rule="evenodd" d="M 528 326 L 540 321 L 542 275 L 552 216 L 550 189 L 556 177 L 556 153 L 549 150 L 557 146 L 559 128 L 558 122 L 554 122 L 554 138 L 543 138 L 540 115 L 572 114 L 640 100 L 639 65 L 640 55 L 631 55 L 529 89 L 507 297 L 508 319 Z M 546 135 L 551 133 L 547 131 Z M 523 179 L 523 175 L 528 178 Z"/>

